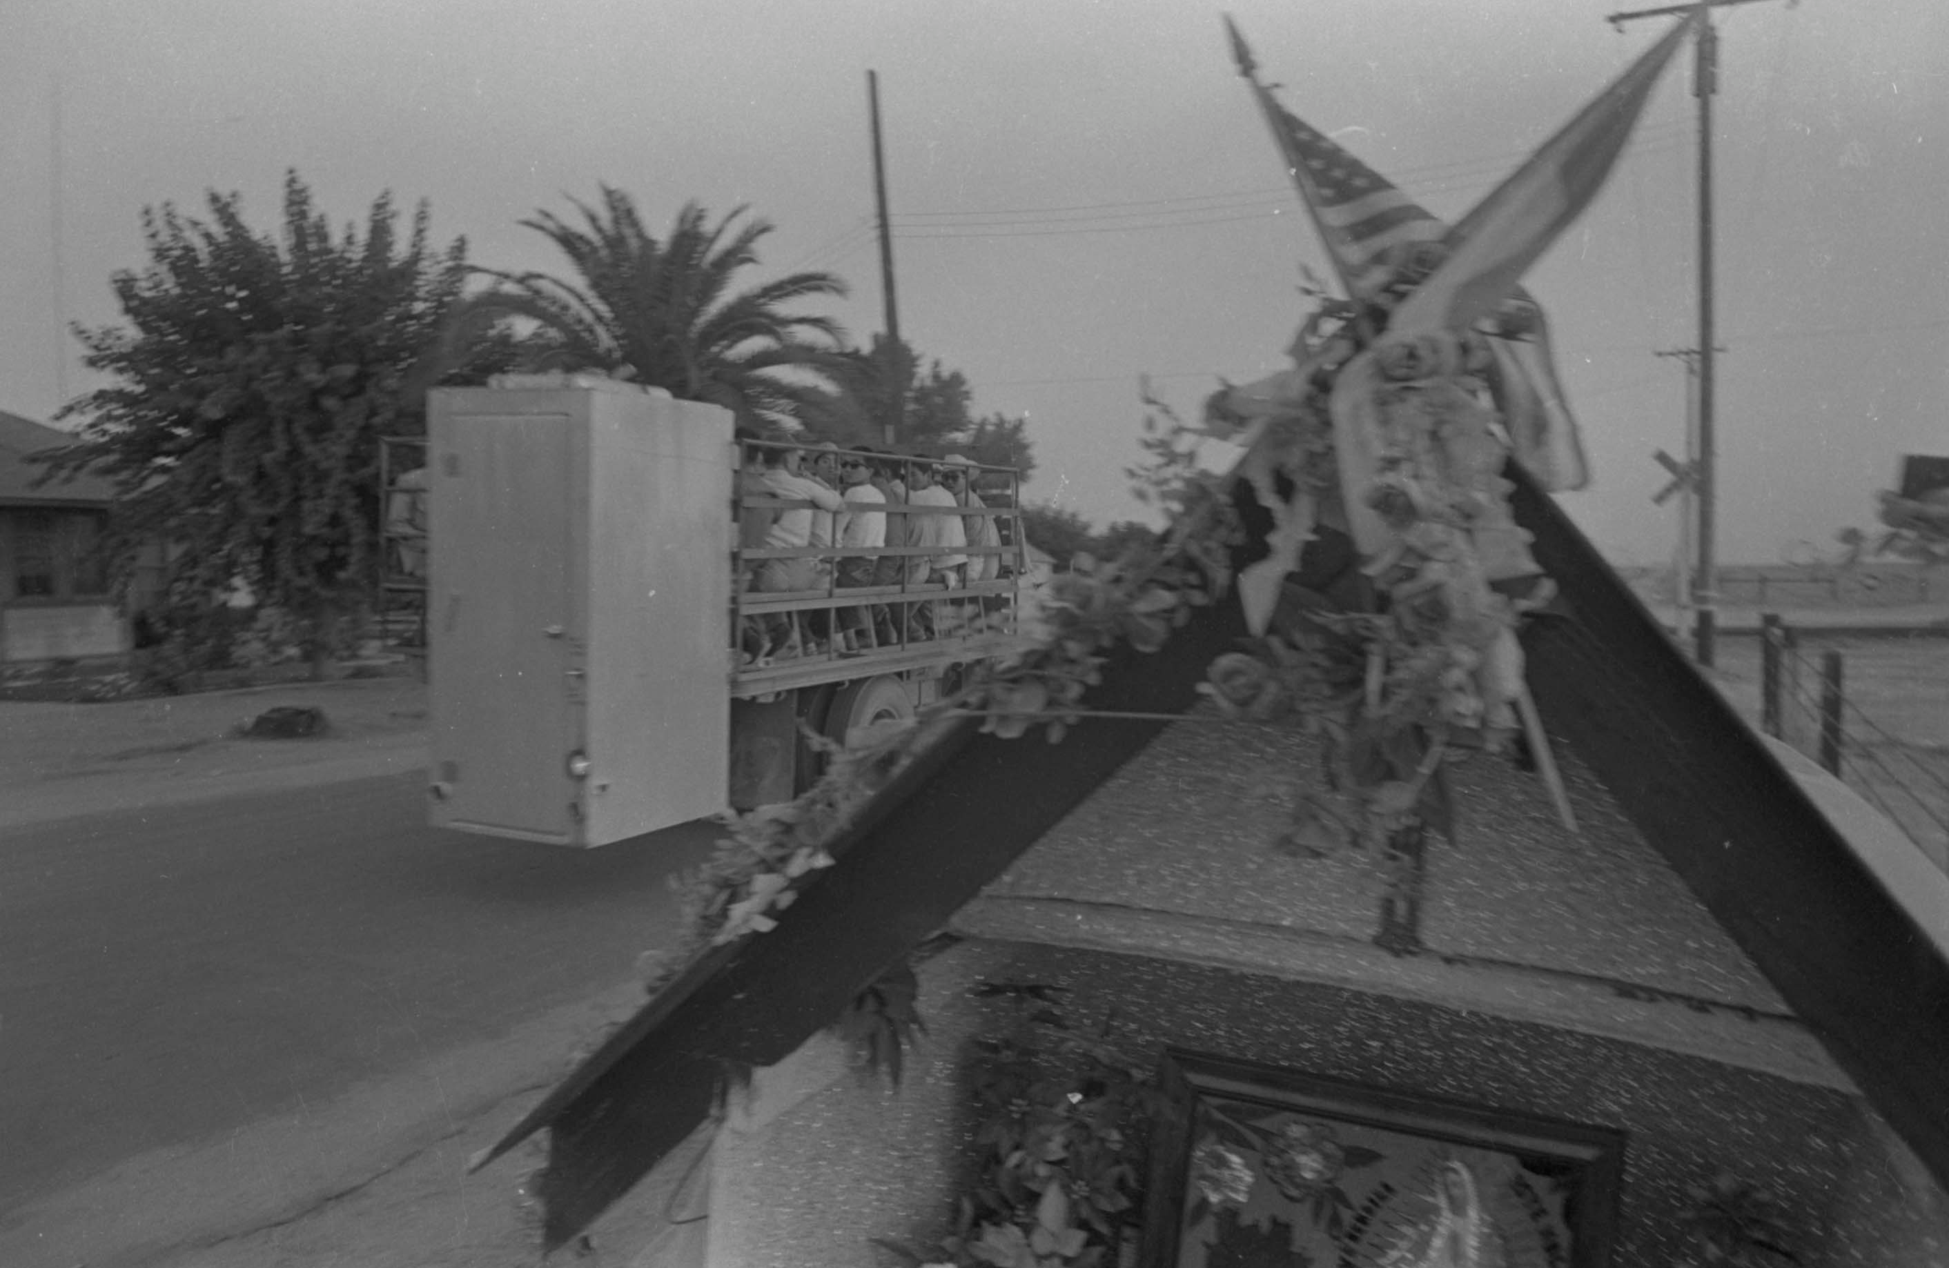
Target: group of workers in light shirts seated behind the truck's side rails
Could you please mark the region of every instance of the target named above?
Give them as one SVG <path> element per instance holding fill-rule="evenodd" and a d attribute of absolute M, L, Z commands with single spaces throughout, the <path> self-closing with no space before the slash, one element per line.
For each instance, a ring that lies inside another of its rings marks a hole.
<path fill-rule="evenodd" d="M 745 559 L 739 588 L 819 594 L 897 588 L 951 594 L 1013 575 L 1013 516 L 994 514 L 976 491 L 982 475 L 1008 483 L 990 493 L 1015 504 L 1013 475 L 961 454 L 926 458 L 832 442 L 764 440 L 739 429 L 739 547 L 795 551 Z M 953 514 L 969 508 L 974 514 Z M 912 547 L 914 553 L 879 553 Z M 873 551 L 873 553 L 852 553 Z M 1006 596 L 887 600 L 748 617 L 739 631 L 746 662 L 805 654 L 858 656 L 934 639 L 1006 610 Z M 801 619 L 803 617 L 803 619 Z"/>

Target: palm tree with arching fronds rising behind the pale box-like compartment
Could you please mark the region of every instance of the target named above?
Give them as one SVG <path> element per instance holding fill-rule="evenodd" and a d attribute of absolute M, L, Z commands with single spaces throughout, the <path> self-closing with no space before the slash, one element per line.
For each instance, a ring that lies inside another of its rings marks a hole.
<path fill-rule="evenodd" d="M 844 331 L 830 317 L 783 306 L 844 296 L 846 282 L 832 273 L 791 273 L 733 292 L 735 275 L 758 263 L 768 220 L 735 226 L 746 212 L 739 206 L 711 226 L 704 206 L 686 203 L 670 236 L 657 242 L 620 189 L 602 185 L 600 208 L 571 203 L 587 226 L 546 210 L 520 224 L 561 247 L 579 284 L 493 273 L 501 286 L 476 296 L 476 317 L 532 317 L 552 368 L 602 370 L 713 401 L 741 423 L 795 423 L 832 409 L 848 374 Z"/>

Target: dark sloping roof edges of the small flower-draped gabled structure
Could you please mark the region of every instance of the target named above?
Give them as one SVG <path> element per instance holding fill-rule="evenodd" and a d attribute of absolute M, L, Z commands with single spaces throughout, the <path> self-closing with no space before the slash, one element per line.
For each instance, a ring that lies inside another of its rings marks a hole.
<path fill-rule="evenodd" d="M 1510 475 L 1516 520 L 1561 592 L 1524 633 L 1549 732 L 1949 1186 L 1943 945 L 1569 518 Z M 1304 563 L 1319 567 L 1312 551 Z M 1236 604 L 1199 610 L 1164 651 L 1121 649 L 1088 705 L 1183 713 L 1206 664 L 1242 633 Z M 834 843 L 836 867 L 774 931 L 692 964 L 497 1145 L 550 1128 L 538 1182 L 548 1247 L 587 1227 L 707 1118 L 721 1063 L 770 1065 L 799 1048 L 1164 728 L 1086 721 L 1049 746 L 978 734 L 969 719 L 947 725 Z"/>

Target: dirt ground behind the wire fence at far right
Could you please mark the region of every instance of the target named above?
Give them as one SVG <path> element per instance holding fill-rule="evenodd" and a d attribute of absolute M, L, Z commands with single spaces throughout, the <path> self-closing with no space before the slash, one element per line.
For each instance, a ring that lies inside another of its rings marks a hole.
<path fill-rule="evenodd" d="M 1949 871 L 1949 639 L 1803 631 L 1781 674 L 1781 738 L 1820 756 L 1824 653 L 1842 660 L 1842 779 Z M 1760 725 L 1760 639 L 1719 641 L 1709 674 Z"/>

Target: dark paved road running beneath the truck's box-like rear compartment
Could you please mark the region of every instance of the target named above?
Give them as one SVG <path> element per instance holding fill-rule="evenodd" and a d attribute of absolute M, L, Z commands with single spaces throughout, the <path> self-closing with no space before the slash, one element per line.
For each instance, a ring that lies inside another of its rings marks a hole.
<path fill-rule="evenodd" d="M 423 787 L 0 830 L 0 1212 L 624 984 L 715 836 L 472 838 Z"/>

